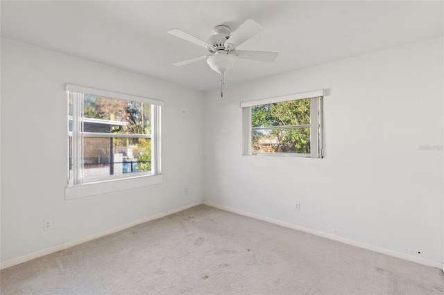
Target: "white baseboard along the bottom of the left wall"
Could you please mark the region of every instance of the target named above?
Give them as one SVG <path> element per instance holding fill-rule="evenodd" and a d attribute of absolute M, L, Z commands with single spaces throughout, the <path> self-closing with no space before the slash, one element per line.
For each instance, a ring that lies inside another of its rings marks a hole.
<path fill-rule="evenodd" d="M 101 237 L 103 237 L 105 235 L 110 235 L 111 233 L 117 233 L 118 231 L 122 231 L 123 229 L 129 229 L 130 227 L 142 224 L 144 222 L 148 222 L 148 221 L 151 221 L 151 220 L 157 220 L 160 217 L 165 217 L 165 216 L 171 215 L 173 213 L 178 213 L 180 211 L 184 211 L 184 210 L 186 210 L 188 208 L 191 208 L 191 207 L 194 207 L 194 206 L 198 206 L 200 204 L 203 204 L 203 202 L 196 202 L 196 203 L 193 203 L 193 204 L 189 204 L 187 206 L 182 206 L 182 207 L 179 207 L 179 208 L 167 211 L 167 212 L 162 212 L 162 213 L 150 216 L 150 217 L 143 218 L 142 220 L 136 220 L 135 222 L 130 222 L 130 223 L 127 223 L 127 224 L 123 224 L 121 226 L 114 227 L 114 229 L 108 229 L 107 231 L 101 231 L 100 233 L 94 233 L 93 235 L 88 235 L 85 238 L 79 238 L 79 239 L 76 239 L 76 240 L 72 240 L 72 241 L 69 241 L 69 242 L 58 244 L 58 245 L 53 246 L 53 247 L 42 249 L 42 250 L 37 251 L 37 252 L 29 253 L 29 254 L 26 254 L 24 256 L 13 258 L 11 260 L 6 260 L 5 262 L 1 262 L 0 263 L 0 269 L 6 269 L 7 267 L 12 267 L 13 265 L 18 265 L 20 263 L 23 263 L 23 262 L 26 262 L 26 261 L 29 261 L 29 260 L 33 260 L 33 259 L 41 257 L 41 256 L 45 256 L 45 255 L 48 255 L 48 254 L 51 254 L 51 253 L 56 253 L 58 251 L 65 250 L 65 249 L 68 249 L 70 247 L 74 247 L 74 246 L 76 246 L 78 244 L 83 244 L 84 242 L 88 242 L 90 240 L 101 238 Z"/>

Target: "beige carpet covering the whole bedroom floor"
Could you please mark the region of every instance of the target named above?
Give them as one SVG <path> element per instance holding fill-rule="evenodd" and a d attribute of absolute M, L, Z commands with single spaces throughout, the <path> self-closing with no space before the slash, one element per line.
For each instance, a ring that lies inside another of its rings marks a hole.
<path fill-rule="evenodd" d="M 1 271 L 1 294 L 444 294 L 441 269 L 197 206 Z"/>

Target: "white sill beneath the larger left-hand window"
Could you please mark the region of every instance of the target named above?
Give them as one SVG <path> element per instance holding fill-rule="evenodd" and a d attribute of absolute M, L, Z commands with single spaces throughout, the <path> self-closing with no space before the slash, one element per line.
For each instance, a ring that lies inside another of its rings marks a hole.
<path fill-rule="evenodd" d="M 80 197 L 112 193 L 118 190 L 152 186 L 155 184 L 162 184 L 162 181 L 162 175 L 148 175 L 128 179 L 95 182 L 92 184 L 82 184 L 80 186 L 67 186 L 65 188 L 65 199 L 77 199 Z"/>

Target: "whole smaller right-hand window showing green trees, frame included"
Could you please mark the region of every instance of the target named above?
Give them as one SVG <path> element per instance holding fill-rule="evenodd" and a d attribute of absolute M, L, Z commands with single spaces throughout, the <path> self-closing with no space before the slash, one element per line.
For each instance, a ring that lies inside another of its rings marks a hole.
<path fill-rule="evenodd" d="M 323 90 L 242 102 L 244 155 L 323 157 Z"/>

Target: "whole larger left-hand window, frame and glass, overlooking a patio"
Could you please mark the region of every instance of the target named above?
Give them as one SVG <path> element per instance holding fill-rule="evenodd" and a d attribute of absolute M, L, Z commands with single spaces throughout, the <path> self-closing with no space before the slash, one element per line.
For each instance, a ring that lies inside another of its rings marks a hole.
<path fill-rule="evenodd" d="M 162 101 L 71 84 L 67 93 L 68 188 L 140 177 L 146 185 L 146 177 L 161 174 Z"/>

